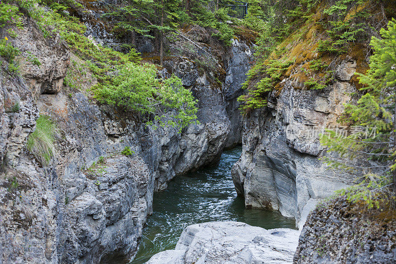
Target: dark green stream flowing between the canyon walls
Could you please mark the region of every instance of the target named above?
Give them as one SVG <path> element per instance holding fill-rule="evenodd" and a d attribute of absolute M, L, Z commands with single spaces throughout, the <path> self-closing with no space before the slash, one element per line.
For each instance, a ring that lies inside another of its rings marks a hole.
<path fill-rule="evenodd" d="M 274 211 L 248 210 L 244 200 L 237 197 L 231 168 L 241 152 L 242 147 L 224 151 L 217 166 L 176 176 L 165 191 L 154 193 L 152 215 L 130 264 L 143 264 L 160 251 L 174 249 L 190 224 L 240 221 L 266 229 L 295 228 L 294 219 Z"/>

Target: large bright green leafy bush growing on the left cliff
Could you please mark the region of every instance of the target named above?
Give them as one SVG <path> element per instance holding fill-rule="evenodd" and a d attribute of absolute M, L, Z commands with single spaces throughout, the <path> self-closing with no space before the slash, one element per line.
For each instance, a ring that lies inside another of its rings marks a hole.
<path fill-rule="evenodd" d="M 197 101 L 180 78 L 157 79 L 155 65 L 129 63 L 107 85 L 94 88 L 99 102 L 151 116 L 179 130 L 197 119 Z M 151 120 L 149 124 L 154 124 Z M 156 123 L 157 124 L 157 123 Z"/>

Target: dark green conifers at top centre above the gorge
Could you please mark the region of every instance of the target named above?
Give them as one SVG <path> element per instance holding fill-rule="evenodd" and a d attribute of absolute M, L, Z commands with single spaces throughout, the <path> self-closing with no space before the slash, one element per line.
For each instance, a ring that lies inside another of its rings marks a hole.
<path fill-rule="evenodd" d="M 137 34 L 154 39 L 162 66 L 166 36 L 188 24 L 211 28 L 212 36 L 230 44 L 235 30 L 227 22 L 239 24 L 240 20 L 229 15 L 233 11 L 227 8 L 228 2 L 233 1 L 214 5 L 209 0 L 122 0 L 118 8 L 109 7 L 111 11 L 103 16 L 113 24 L 113 32 L 130 40 L 131 47 L 136 47 Z"/>

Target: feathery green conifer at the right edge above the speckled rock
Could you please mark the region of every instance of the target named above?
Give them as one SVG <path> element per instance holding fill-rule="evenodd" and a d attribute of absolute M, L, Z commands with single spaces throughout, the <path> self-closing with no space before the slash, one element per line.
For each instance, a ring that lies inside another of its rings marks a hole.
<path fill-rule="evenodd" d="M 360 90 L 365 94 L 356 105 L 347 105 L 347 120 L 356 126 L 375 128 L 375 135 L 366 139 L 367 131 L 351 133 L 347 137 L 335 132 L 324 135 L 322 142 L 330 151 L 353 159 L 366 157 L 370 165 L 351 166 L 335 160 L 330 164 L 363 174 L 359 183 L 349 191 L 352 200 L 365 200 L 369 207 L 380 202 L 395 202 L 396 196 L 396 20 L 381 29 L 382 39 L 373 37 L 370 69 L 360 75 Z M 352 127 L 353 128 L 353 127 Z M 391 198 L 391 199 L 389 199 Z"/>

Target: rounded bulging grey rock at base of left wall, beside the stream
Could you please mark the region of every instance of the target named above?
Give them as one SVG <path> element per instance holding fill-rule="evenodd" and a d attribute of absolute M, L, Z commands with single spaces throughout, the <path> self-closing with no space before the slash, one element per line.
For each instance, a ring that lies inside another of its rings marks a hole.
<path fill-rule="evenodd" d="M 65 230 L 58 249 L 63 248 L 65 263 L 99 263 L 117 254 L 128 256 L 152 211 L 152 174 L 142 159 L 115 155 L 87 173 L 78 184 L 65 183 L 70 187 L 65 214 L 67 222 L 75 223 L 62 223 Z M 68 243 L 71 238 L 74 243 Z"/>

